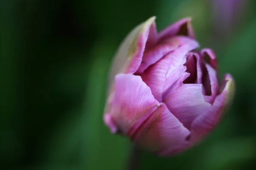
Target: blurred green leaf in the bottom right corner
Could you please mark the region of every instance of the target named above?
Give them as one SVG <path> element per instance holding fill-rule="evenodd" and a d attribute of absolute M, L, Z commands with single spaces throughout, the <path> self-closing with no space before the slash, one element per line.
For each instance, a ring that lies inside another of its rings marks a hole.
<path fill-rule="evenodd" d="M 226 170 L 230 165 L 234 168 L 243 161 L 255 159 L 255 150 L 256 139 L 254 137 L 219 141 L 209 145 L 201 156 L 197 156 L 201 162 L 195 168 Z"/>

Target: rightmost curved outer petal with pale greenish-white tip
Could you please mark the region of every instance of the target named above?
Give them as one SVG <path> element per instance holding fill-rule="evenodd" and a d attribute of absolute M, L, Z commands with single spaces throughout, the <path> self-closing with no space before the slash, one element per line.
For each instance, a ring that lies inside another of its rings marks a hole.
<path fill-rule="evenodd" d="M 215 98 L 212 107 L 202 112 L 191 125 L 191 143 L 195 143 L 206 136 L 219 122 L 221 114 L 233 99 L 235 83 L 230 74 L 226 74 L 222 81 L 221 93 Z"/>

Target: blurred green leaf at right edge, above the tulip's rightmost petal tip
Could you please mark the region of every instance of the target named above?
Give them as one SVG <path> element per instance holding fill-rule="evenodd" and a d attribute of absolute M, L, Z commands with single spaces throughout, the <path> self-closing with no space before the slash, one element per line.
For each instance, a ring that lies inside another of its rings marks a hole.
<path fill-rule="evenodd" d="M 250 72 L 248 68 L 254 67 L 256 61 L 256 21 L 244 26 L 241 32 L 222 49 L 218 55 L 221 73 L 231 73 L 238 83 L 244 75 Z"/>

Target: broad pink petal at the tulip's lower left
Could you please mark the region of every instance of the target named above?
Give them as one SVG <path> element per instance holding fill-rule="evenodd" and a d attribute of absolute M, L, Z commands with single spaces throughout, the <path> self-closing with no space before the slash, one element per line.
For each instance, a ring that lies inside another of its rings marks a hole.
<path fill-rule="evenodd" d="M 140 76 L 118 74 L 116 76 L 115 93 L 108 101 L 105 123 L 112 132 L 116 129 L 122 133 L 127 131 L 147 113 L 152 113 L 159 105 L 150 88 Z M 107 121 L 106 121 L 107 120 Z"/>

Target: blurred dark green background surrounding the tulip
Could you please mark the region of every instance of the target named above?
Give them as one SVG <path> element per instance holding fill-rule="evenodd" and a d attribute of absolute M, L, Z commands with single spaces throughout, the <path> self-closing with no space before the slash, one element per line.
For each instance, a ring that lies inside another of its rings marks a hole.
<path fill-rule="evenodd" d="M 254 169 L 256 1 L 227 1 L 0 0 L 0 166 L 125 170 L 132 144 L 102 121 L 108 71 L 125 35 L 155 15 L 158 31 L 193 17 L 236 97 L 204 142 L 169 158 L 143 152 L 137 169 Z"/>

